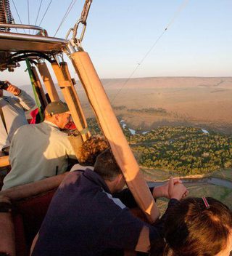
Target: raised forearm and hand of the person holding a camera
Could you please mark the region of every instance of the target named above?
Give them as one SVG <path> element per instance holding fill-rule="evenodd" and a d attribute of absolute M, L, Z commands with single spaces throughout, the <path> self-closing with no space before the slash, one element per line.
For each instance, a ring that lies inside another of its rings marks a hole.
<path fill-rule="evenodd" d="M 30 97 L 30 95 L 28 95 L 25 91 L 19 89 L 15 85 L 10 84 L 9 81 L 7 81 L 7 83 L 9 84 L 7 92 L 10 92 L 17 97 L 17 102 L 20 103 L 20 105 L 22 105 L 22 108 L 25 111 L 28 111 L 30 110 L 30 108 L 33 108 L 35 106 L 35 101 L 32 97 Z"/>

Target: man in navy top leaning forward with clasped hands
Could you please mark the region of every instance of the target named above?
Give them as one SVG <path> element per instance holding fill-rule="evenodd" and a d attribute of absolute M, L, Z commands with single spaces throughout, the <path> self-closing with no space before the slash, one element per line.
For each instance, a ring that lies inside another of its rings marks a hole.
<path fill-rule="evenodd" d="M 67 175 L 51 201 L 32 256 L 111 255 L 109 249 L 147 252 L 151 242 L 162 239 L 162 222 L 149 225 L 134 217 L 125 206 L 128 199 L 130 206 L 136 206 L 130 192 L 118 193 L 124 186 L 109 149 L 97 157 L 94 172 Z M 187 193 L 182 183 L 170 188 L 163 193 L 171 198 L 168 209 Z"/>

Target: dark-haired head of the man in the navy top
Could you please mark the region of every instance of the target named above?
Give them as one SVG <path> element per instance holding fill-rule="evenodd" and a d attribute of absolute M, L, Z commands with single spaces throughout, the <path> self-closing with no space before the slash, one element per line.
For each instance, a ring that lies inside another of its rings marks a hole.
<path fill-rule="evenodd" d="M 110 148 L 100 153 L 96 158 L 94 172 L 103 178 L 112 193 L 121 191 L 125 186 L 121 169 L 117 165 Z"/>

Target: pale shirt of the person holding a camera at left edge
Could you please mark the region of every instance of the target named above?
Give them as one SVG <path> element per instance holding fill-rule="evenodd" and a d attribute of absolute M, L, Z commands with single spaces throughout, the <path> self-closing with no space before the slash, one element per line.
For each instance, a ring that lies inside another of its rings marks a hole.
<path fill-rule="evenodd" d="M 7 131 L 0 117 L 0 151 L 8 147 L 14 132 L 22 125 L 28 124 L 25 118 L 25 111 L 33 108 L 35 102 L 26 92 L 20 92 L 17 97 L 0 97 L 0 108 L 4 115 Z"/>

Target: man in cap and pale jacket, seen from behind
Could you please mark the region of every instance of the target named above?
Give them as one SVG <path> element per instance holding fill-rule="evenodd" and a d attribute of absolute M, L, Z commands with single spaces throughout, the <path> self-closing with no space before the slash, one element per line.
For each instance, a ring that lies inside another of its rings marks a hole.
<path fill-rule="evenodd" d="M 67 134 L 60 129 L 69 121 L 67 104 L 59 101 L 46 106 L 42 123 L 17 129 L 9 151 L 12 170 L 4 178 L 2 190 L 67 171 L 68 160 L 76 157 Z"/>

